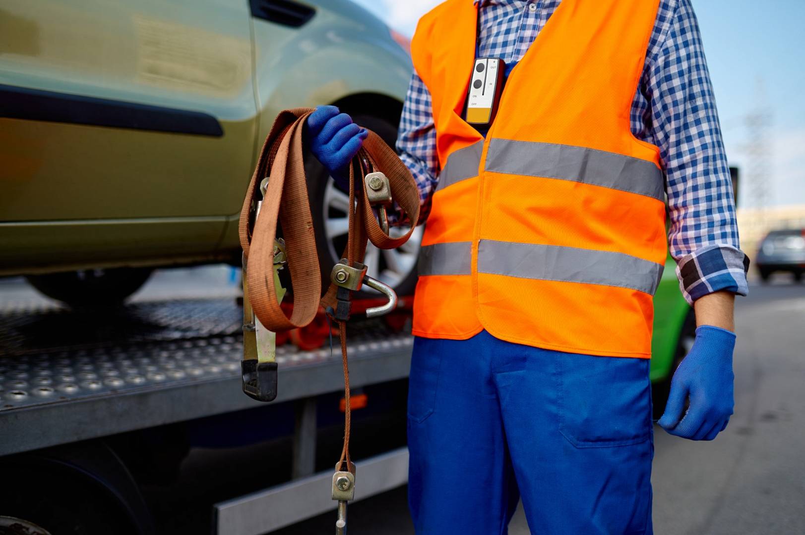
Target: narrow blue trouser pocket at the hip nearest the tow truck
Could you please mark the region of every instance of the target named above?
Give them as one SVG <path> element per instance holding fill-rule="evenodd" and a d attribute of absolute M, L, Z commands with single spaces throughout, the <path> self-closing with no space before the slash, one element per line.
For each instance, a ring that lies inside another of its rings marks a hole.
<path fill-rule="evenodd" d="M 442 352 L 432 347 L 440 340 L 415 338 L 408 377 L 408 419 L 424 422 L 436 407 Z"/>

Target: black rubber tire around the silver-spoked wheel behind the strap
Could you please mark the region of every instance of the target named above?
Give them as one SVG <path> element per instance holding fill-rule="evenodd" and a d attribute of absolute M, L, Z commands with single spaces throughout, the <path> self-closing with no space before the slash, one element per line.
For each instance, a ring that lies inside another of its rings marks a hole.
<path fill-rule="evenodd" d="M 349 110 L 345 111 L 349 113 Z M 396 142 L 397 139 L 396 125 L 391 124 L 390 121 L 387 121 L 386 119 L 371 115 L 361 113 L 350 113 L 350 115 L 353 117 L 353 121 L 355 121 L 358 125 L 365 126 L 369 130 L 373 130 L 374 133 L 378 134 L 383 141 L 389 144 L 389 146 L 394 146 L 394 142 Z M 307 157 L 305 158 L 305 173 L 308 175 L 308 195 L 310 197 L 313 226 L 316 231 L 316 249 L 319 253 L 319 263 L 321 265 L 322 280 L 324 282 L 322 291 L 324 291 L 327 289 L 327 286 L 329 286 L 330 271 L 332 270 L 332 266 L 339 261 L 338 255 L 343 252 L 346 245 L 346 240 L 344 239 L 341 241 L 334 239 L 331 241 L 326 235 L 324 228 L 324 199 L 325 193 L 327 192 L 328 183 L 331 182 L 331 179 L 329 178 L 324 167 L 312 154 L 307 154 Z M 419 252 L 417 251 L 417 253 Z M 414 264 L 414 269 L 411 270 L 410 273 L 404 276 L 402 280 L 392 283 L 391 286 L 398 295 L 410 295 L 414 293 L 416 280 L 417 273 Z M 287 287 L 287 282 L 287 279 L 283 278 L 283 286 Z M 379 295 L 380 294 L 373 290 L 366 292 L 361 291 L 359 293 L 359 297 L 367 298 L 376 298 Z"/>

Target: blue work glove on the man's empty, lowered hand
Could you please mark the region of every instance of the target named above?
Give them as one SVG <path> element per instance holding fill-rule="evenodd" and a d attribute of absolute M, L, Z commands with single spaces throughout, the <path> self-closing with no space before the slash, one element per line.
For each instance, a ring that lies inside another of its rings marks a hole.
<path fill-rule="evenodd" d="M 712 440 L 733 414 L 735 333 L 702 325 L 696 341 L 671 379 L 671 394 L 659 426 L 691 440 Z M 683 414 L 685 400 L 690 406 Z"/>

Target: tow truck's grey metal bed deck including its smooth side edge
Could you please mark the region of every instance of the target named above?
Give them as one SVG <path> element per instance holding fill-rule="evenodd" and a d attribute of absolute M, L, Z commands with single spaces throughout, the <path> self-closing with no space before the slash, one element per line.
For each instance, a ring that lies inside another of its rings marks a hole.
<path fill-rule="evenodd" d="M 0 311 L 0 455 L 261 405 L 241 391 L 242 309 L 232 298 L 109 310 Z M 407 377 L 411 335 L 350 324 L 353 386 Z M 343 388 L 329 344 L 277 349 L 277 401 Z"/>

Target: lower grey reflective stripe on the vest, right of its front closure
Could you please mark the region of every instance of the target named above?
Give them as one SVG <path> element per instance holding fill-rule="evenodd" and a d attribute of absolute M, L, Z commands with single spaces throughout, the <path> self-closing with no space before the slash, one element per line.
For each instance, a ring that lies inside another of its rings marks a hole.
<path fill-rule="evenodd" d="M 663 265 L 623 253 L 481 240 L 478 273 L 584 282 L 630 288 L 654 295 Z"/>

